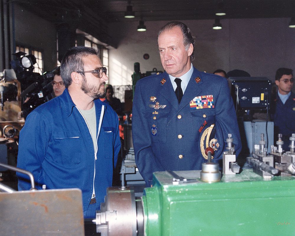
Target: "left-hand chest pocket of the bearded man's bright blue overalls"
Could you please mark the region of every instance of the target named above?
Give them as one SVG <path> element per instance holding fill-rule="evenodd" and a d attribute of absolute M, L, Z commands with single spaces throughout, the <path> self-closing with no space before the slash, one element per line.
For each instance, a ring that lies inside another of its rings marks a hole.
<path fill-rule="evenodd" d="M 57 132 L 52 136 L 54 161 L 63 165 L 73 165 L 81 162 L 83 140 L 80 133 Z"/>

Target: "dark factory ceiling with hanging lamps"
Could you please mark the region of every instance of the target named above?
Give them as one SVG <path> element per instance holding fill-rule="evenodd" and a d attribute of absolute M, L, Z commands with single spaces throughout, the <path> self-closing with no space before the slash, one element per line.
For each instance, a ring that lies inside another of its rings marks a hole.
<path fill-rule="evenodd" d="M 130 21 L 171 21 L 214 19 L 217 9 L 226 12 L 221 19 L 295 17 L 294 0 L 18 0 L 16 2 L 55 24 L 76 25 L 94 37 L 108 35 L 108 24 Z M 127 5 L 135 17 L 124 18 Z M 99 37 L 98 37 L 99 38 Z"/>

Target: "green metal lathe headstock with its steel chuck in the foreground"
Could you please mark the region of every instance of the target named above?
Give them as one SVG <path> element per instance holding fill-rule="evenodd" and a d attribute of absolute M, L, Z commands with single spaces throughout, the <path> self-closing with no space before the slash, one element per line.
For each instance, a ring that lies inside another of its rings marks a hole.
<path fill-rule="evenodd" d="M 188 183 L 155 172 L 153 187 L 140 198 L 126 187 L 109 188 L 96 214 L 97 231 L 102 236 L 295 235 L 293 176 L 264 179 L 246 169 L 205 183 L 200 172 L 175 171 L 193 180 Z"/>

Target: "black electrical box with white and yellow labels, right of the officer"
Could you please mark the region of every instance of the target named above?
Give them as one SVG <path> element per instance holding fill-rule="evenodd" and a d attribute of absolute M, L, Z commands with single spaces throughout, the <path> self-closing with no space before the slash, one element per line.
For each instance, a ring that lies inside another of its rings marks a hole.
<path fill-rule="evenodd" d="M 236 110 L 270 108 L 271 84 L 266 77 L 230 77 L 231 94 Z"/>

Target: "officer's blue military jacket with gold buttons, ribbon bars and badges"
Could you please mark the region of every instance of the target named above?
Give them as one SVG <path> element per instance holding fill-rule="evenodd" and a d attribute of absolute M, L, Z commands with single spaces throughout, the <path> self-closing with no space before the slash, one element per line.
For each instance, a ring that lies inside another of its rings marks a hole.
<path fill-rule="evenodd" d="M 133 99 L 132 139 L 146 185 L 151 184 L 155 171 L 200 170 L 207 161 L 200 140 L 204 142 L 202 134 L 212 124 L 213 161 L 222 158 L 229 133 L 238 155 L 240 134 L 225 78 L 194 68 L 180 104 L 166 72 L 140 79 Z"/>

